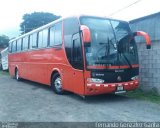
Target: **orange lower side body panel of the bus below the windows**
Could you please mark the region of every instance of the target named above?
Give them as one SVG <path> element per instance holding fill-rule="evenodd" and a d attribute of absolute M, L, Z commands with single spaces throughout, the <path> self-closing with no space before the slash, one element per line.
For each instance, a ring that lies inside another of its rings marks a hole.
<path fill-rule="evenodd" d="M 9 54 L 9 72 L 15 75 L 18 68 L 21 78 L 51 85 L 54 70 L 62 77 L 64 90 L 84 94 L 83 71 L 74 69 L 67 61 L 64 48 L 47 48 L 35 51 Z"/>

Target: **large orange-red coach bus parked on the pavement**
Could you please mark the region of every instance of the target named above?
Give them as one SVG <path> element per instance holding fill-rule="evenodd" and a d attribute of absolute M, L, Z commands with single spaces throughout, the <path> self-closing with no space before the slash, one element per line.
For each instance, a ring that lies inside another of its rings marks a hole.
<path fill-rule="evenodd" d="M 129 23 L 98 16 L 70 16 L 9 42 L 9 73 L 81 96 L 124 93 L 139 83 L 138 52 Z"/>

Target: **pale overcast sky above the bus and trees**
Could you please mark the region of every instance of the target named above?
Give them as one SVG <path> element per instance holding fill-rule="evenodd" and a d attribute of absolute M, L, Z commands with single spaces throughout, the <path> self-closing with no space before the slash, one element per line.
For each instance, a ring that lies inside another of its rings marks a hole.
<path fill-rule="evenodd" d="M 0 3 L 0 35 L 10 38 L 20 34 L 19 25 L 26 13 L 89 14 L 129 21 L 160 11 L 158 0 L 0 0 Z"/>

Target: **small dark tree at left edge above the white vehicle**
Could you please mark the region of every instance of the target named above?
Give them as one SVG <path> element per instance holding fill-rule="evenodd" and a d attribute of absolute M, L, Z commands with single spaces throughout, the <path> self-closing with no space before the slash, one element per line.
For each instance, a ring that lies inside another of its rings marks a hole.
<path fill-rule="evenodd" d="M 0 36 L 0 48 L 6 48 L 9 45 L 9 37 L 6 35 Z"/>

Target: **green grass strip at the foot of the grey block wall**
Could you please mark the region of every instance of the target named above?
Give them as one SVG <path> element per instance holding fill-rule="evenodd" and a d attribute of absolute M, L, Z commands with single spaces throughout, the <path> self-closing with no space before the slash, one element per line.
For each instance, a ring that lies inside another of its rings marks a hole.
<path fill-rule="evenodd" d="M 134 91 L 127 92 L 125 95 L 131 98 L 141 99 L 160 104 L 160 95 L 158 95 L 156 92 L 144 92 L 141 89 L 137 89 Z"/>

